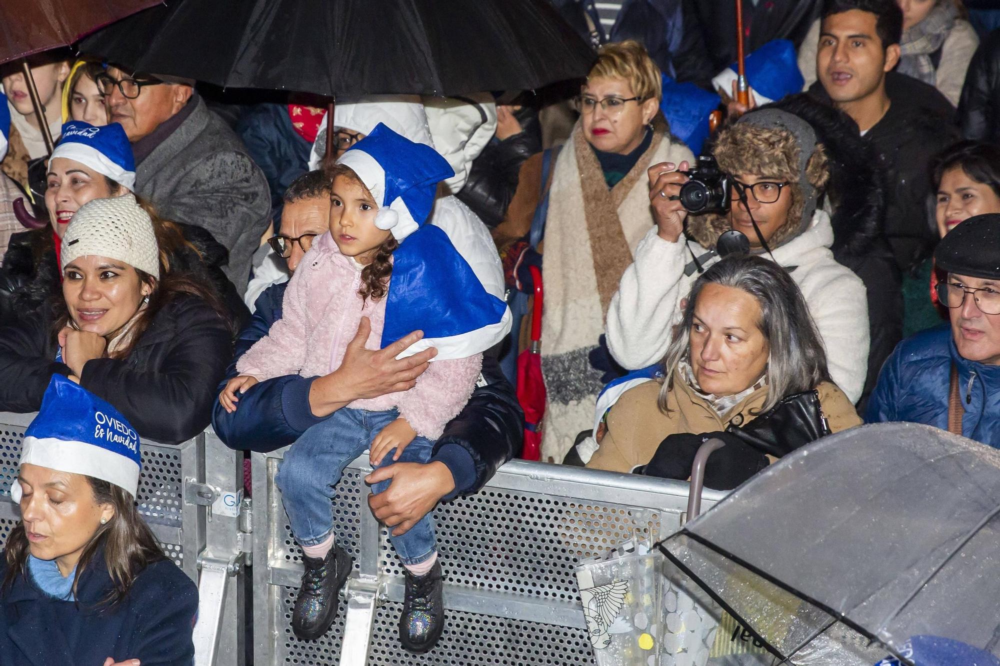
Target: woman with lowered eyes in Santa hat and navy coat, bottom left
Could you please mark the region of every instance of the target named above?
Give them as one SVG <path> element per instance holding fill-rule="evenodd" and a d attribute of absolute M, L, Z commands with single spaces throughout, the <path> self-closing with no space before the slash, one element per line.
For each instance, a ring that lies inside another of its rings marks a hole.
<path fill-rule="evenodd" d="M 139 438 L 54 376 L 24 433 L 0 557 L 0 666 L 191 664 L 198 590 L 136 510 Z"/>

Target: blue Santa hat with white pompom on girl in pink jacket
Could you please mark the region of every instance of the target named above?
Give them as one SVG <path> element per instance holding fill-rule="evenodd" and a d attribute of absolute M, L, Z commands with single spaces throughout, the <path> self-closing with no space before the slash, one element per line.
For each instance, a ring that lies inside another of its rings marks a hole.
<path fill-rule="evenodd" d="M 337 164 L 350 167 L 379 205 L 375 226 L 403 240 L 434 208 L 437 184 L 455 175 L 433 148 L 414 143 L 379 123 L 351 146 Z"/>

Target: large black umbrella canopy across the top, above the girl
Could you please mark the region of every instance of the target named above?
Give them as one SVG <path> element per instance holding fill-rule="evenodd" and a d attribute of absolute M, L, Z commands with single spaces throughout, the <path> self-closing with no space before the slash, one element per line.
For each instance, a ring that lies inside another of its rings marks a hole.
<path fill-rule="evenodd" d="M 329 97 L 534 89 L 594 59 L 545 0 L 184 0 L 80 48 L 135 71 Z"/>

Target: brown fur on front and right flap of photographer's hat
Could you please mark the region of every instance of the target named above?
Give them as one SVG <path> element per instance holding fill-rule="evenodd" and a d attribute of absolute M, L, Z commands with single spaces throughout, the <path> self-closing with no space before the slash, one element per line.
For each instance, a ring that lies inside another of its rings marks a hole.
<path fill-rule="evenodd" d="M 719 168 L 726 173 L 752 173 L 790 183 L 792 204 L 785 224 L 771 237 L 771 247 L 790 240 L 802 225 L 805 197 L 798 184 L 801 149 L 795 136 L 787 130 L 739 123 L 719 132 L 712 151 Z M 823 144 L 816 144 L 816 151 L 806 163 L 806 178 L 820 198 L 830 180 L 830 165 Z"/>

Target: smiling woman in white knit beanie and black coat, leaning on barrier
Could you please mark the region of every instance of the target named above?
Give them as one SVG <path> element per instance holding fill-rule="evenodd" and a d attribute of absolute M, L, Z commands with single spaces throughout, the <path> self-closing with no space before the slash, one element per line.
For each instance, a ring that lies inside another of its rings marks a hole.
<path fill-rule="evenodd" d="M 225 308 L 168 263 L 126 194 L 84 204 L 61 239 L 61 298 L 0 329 L 0 410 L 33 412 L 53 375 L 116 405 L 164 443 L 209 424 L 232 353 Z"/>

